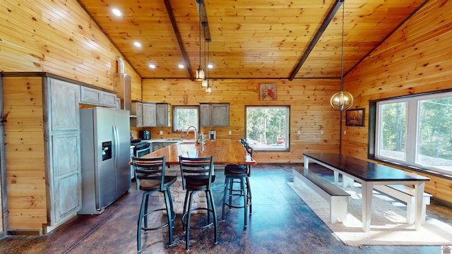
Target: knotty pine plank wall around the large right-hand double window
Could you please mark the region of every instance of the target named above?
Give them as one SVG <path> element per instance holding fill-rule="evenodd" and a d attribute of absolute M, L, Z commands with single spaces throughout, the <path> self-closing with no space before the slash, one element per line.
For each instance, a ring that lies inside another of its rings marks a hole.
<path fill-rule="evenodd" d="M 343 126 L 342 151 L 367 158 L 369 100 L 452 88 L 452 1 L 430 1 L 345 76 L 353 108 L 366 109 L 366 126 Z M 430 177 L 427 192 L 452 202 L 452 181 Z"/>

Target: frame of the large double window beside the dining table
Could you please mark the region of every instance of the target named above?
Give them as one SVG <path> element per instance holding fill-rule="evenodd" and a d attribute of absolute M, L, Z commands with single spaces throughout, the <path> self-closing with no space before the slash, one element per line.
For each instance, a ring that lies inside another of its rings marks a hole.
<path fill-rule="evenodd" d="M 388 164 L 393 164 L 398 167 L 403 167 L 406 169 L 412 169 L 415 171 L 425 171 L 430 174 L 440 174 L 442 176 L 452 176 L 452 171 L 439 169 L 436 167 L 428 167 L 426 165 L 417 164 L 417 150 L 418 150 L 418 112 L 419 104 L 423 100 L 427 99 L 439 99 L 443 97 L 452 97 L 452 89 L 440 90 L 435 92 L 424 92 L 417 95 L 405 95 L 399 97 L 389 97 L 385 99 L 376 99 L 369 101 L 369 137 L 368 137 L 368 159 L 373 159 L 380 162 L 385 162 Z M 391 159 L 388 157 L 381 157 L 378 155 L 378 114 L 379 105 L 396 103 L 396 102 L 407 102 L 407 134 L 406 139 L 406 162 L 397 159 Z"/>

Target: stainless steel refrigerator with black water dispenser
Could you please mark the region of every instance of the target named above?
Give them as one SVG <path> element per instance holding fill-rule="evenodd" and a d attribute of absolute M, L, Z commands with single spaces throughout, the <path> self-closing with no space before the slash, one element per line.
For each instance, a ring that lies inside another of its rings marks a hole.
<path fill-rule="evenodd" d="M 82 209 L 100 214 L 131 188 L 129 111 L 80 109 Z"/>

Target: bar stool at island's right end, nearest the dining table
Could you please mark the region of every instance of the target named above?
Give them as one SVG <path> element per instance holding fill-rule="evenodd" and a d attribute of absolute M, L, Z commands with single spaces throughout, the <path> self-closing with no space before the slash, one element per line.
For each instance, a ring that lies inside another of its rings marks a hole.
<path fill-rule="evenodd" d="M 246 152 L 251 157 L 254 154 L 254 148 L 246 145 Z M 248 222 L 248 214 L 252 212 L 251 185 L 249 177 L 251 176 L 251 165 L 227 165 L 225 167 L 225 193 L 223 195 L 222 221 L 225 221 L 225 207 L 244 208 L 244 227 Z M 238 180 L 238 181 L 237 181 Z M 234 183 L 239 183 L 240 187 L 234 189 Z M 243 205 L 234 205 L 232 198 L 238 196 L 243 198 Z"/>

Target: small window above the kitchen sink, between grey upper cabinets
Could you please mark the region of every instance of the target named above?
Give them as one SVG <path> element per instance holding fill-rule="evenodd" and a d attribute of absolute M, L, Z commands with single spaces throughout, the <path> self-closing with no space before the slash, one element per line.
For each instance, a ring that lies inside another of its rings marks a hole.
<path fill-rule="evenodd" d="M 199 130 L 198 106 L 173 106 L 172 107 L 172 131 L 186 131 L 190 126 Z"/>

